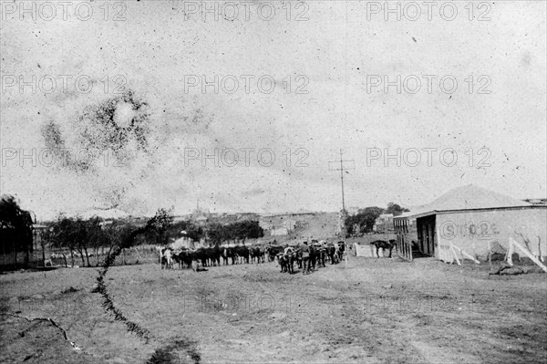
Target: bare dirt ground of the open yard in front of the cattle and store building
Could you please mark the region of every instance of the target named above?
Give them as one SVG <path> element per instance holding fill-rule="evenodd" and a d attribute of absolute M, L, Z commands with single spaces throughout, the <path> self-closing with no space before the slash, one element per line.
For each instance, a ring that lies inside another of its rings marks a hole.
<path fill-rule="evenodd" d="M 348 258 L 307 276 L 275 263 L 112 267 L 110 296 L 148 344 L 91 293 L 96 268 L 3 275 L 0 362 L 547 362 L 544 274 Z"/>

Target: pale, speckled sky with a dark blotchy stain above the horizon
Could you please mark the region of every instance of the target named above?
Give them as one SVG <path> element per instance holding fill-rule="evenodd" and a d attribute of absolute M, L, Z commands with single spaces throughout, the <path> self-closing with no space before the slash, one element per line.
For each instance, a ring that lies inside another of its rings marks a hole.
<path fill-rule="evenodd" d="M 545 197 L 547 5 L 422 4 L 2 1 L 1 193 L 337 211 L 342 150 L 346 207 Z"/>

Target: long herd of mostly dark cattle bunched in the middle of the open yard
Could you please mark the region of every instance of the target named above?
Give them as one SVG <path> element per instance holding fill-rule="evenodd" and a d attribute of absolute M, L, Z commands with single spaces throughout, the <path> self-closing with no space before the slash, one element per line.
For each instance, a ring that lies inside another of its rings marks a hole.
<path fill-rule="evenodd" d="M 306 243 L 307 244 L 307 243 Z M 263 244 L 263 245 L 236 245 L 212 247 L 200 247 L 192 250 L 187 248 L 173 249 L 171 247 L 160 247 L 156 249 L 160 254 L 161 268 L 172 268 L 179 265 L 182 268 L 192 268 L 195 262 L 199 266 L 238 265 L 249 263 L 264 263 L 266 261 L 277 263 L 281 266 L 281 272 L 294 273 L 294 264 L 297 264 L 303 272 L 315 269 L 315 266 L 325 266 L 325 260 L 334 265 L 342 260 L 346 245 L 344 242 L 326 243 L 312 241 L 309 245 L 309 255 L 303 255 L 303 244 L 297 246 Z M 307 264 L 306 264 L 307 263 Z"/>

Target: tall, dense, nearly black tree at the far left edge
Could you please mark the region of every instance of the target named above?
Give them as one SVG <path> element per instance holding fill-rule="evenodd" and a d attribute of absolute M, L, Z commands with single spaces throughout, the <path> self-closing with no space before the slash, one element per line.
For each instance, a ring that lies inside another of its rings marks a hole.
<path fill-rule="evenodd" d="M 0 200 L 0 239 L 4 251 L 13 252 L 15 265 L 17 264 L 17 252 L 26 252 L 26 264 L 28 264 L 28 252 L 33 244 L 33 222 L 28 211 L 19 207 L 14 196 L 4 195 Z"/>

